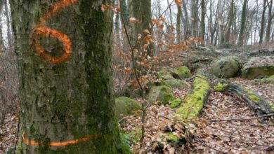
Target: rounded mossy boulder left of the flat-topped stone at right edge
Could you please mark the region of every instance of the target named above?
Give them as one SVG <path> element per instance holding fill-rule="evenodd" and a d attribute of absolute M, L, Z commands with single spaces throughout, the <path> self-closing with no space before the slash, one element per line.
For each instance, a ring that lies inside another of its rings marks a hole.
<path fill-rule="evenodd" d="M 223 57 L 214 62 L 211 72 L 219 78 L 232 78 L 237 76 L 240 70 L 240 62 L 236 57 Z"/>

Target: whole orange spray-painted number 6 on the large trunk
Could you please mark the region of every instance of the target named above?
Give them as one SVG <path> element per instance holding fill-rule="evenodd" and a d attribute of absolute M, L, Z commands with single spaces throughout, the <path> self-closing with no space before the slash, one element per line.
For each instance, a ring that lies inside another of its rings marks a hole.
<path fill-rule="evenodd" d="M 48 29 L 44 27 L 44 25 L 46 24 L 46 20 L 49 20 L 53 16 L 53 14 L 56 13 L 58 10 L 65 8 L 67 6 L 70 6 L 72 3 L 76 3 L 77 1 L 78 0 L 62 0 L 55 3 L 53 7 L 51 8 L 51 10 L 49 10 L 48 13 L 46 13 L 46 15 L 44 15 L 43 18 L 41 18 L 39 24 L 35 26 L 34 45 L 36 48 L 36 52 L 37 54 L 41 55 L 41 57 L 44 57 L 45 59 L 47 59 L 49 62 L 52 62 L 52 63 L 63 62 L 65 59 L 67 59 L 70 56 L 72 51 L 71 51 L 70 38 L 67 35 L 61 33 L 60 31 L 57 31 L 54 29 Z M 60 57 L 53 57 L 47 54 L 44 48 L 39 43 L 39 39 L 37 38 L 38 35 L 41 35 L 44 37 L 51 36 L 51 37 L 58 38 L 59 41 L 63 43 L 63 50 L 65 51 L 63 55 L 61 55 Z"/>

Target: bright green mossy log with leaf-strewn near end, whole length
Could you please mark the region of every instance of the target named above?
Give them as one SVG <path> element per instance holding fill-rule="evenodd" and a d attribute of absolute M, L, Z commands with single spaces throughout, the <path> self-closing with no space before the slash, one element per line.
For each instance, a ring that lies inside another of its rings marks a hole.
<path fill-rule="evenodd" d="M 193 90 L 176 110 L 172 125 L 167 127 L 164 133 L 157 139 L 158 145 L 170 144 L 180 146 L 192 139 L 192 131 L 195 130 L 195 118 L 200 116 L 204 104 L 210 93 L 210 85 L 207 77 L 198 75 L 193 81 Z M 160 147 L 156 148 L 160 150 Z"/>

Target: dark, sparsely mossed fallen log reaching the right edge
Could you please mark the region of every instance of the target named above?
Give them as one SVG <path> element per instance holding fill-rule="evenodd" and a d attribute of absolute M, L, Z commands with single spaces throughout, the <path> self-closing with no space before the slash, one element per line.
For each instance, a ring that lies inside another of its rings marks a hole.
<path fill-rule="evenodd" d="M 237 85 L 234 83 L 218 84 L 214 87 L 217 92 L 224 92 L 237 97 L 238 99 L 245 102 L 249 108 L 251 108 L 256 116 L 263 116 L 267 114 L 274 113 L 274 105 L 271 105 L 265 98 L 252 92 L 247 87 L 242 85 Z M 272 117 L 272 119 L 274 116 Z M 267 117 L 261 118 L 261 122 L 266 122 Z"/>

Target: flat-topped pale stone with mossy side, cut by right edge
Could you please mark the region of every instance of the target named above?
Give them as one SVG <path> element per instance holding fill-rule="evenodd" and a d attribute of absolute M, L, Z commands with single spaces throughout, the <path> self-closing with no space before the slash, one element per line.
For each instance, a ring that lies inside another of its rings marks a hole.
<path fill-rule="evenodd" d="M 264 78 L 274 75 L 274 56 L 252 57 L 242 69 L 242 78 Z"/>

